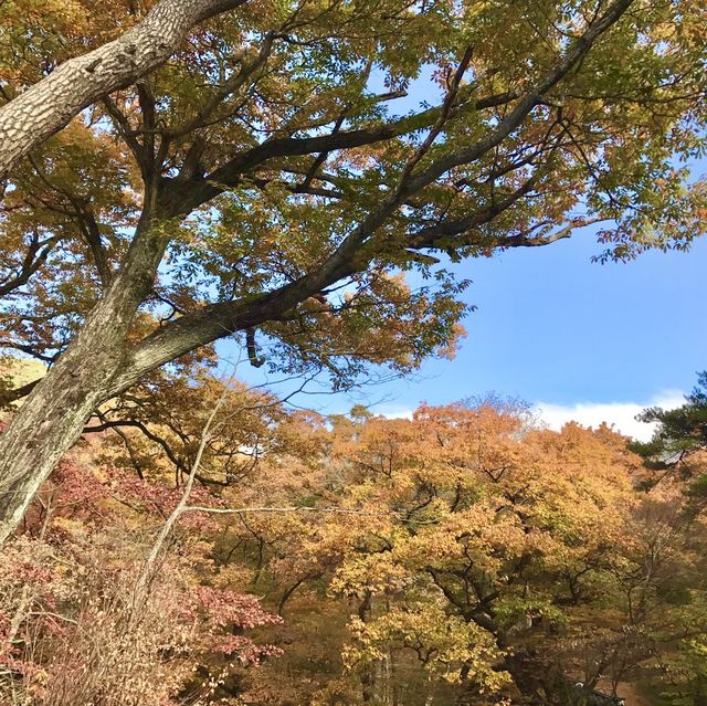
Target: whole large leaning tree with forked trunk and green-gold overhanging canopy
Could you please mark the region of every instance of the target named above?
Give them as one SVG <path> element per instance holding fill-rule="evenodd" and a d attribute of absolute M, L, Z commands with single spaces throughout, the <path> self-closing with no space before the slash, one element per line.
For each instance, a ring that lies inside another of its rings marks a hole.
<path fill-rule="evenodd" d="M 221 7 L 180 7 L 197 4 Z M 9 85 L 123 19 L 71 8 L 85 31 L 63 34 L 51 4 L 46 22 L 9 15 Z M 689 0 L 263 0 L 134 85 L 107 81 L 8 178 L 3 344 L 50 371 L 0 440 L 0 539 L 102 402 L 200 347 L 236 335 L 261 365 L 267 343 L 273 368 L 339 382 L 368 362 L 404 371 L 460 333 L 446 257 L 591 223 L 606 256 L 688 246 L 704 188 L 675 157 L 701 146 L 698 15 Z M 430 66 L 439 104 L 395 115 Z"/>

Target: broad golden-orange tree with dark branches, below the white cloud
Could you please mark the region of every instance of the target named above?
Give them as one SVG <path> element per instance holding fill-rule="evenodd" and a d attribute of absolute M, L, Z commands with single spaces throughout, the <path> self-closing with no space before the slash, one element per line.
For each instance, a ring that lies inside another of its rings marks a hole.
<path fill-rule="evenodd" d="M 254 591 L 296 602 L 293 587 L 326 588 L 321 611 L 349 601 L 339 609 L 349 639 L 329 647 L 349 667 L 329 691 L 359 681 L 346 703 L 569 703 L 555 699 L 578 678 L 593 688 L 619 672 L 614 653 L 633 645 L 624 587 L 633 582 L 635 612 L 640 590 L 668 573 L 642 582 L 639 462 L 605 428 L 538 430 L 498 401 L 423 407 L 412 420 L 337 419 L 324 440 L 313 425 L 305 459 L 309 468 L 271 460 L 253 486 L 312 512 L 249 515 L 225 544 L 249 550 Z"/>

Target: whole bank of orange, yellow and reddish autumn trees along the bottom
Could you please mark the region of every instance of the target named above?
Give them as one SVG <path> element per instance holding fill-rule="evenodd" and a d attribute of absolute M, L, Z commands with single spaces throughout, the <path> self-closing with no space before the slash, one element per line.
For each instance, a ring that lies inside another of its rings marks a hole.
<path fill-rule="evenodd" d="M 144 426 L 96 420 L 3 550 L 9 703 L 697 703 L 701 514 L 611 429 L 497 397 L 324 418 L 205 373 L 179 421 L 172 386 Z M 202 509 L 140 592 L 217 397 Z"/>

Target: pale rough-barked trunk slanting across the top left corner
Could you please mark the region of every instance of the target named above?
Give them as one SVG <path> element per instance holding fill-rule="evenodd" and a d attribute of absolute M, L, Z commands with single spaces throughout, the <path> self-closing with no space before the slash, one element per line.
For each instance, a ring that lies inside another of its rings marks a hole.
<path fill-rule="evenodd" d="M 33 147 L 112 91 L 134 83 L 197 23 L 245 0 L 160 0 L 125 34 L 71 59 L 0 108 L 0 179 Z"/>

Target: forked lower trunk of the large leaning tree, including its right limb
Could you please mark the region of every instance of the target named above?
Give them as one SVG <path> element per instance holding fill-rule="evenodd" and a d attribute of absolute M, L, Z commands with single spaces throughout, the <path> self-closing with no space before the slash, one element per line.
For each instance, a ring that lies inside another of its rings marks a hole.
<path fill-rule="evenodd" d="M 106 296 L 0 438 L 0 546 L 103 401 L 165 362 L 270 320 L 342 276 L 340 267 L 324 268 L 255 301 L 205 307 L 128 347 L 126 333 L 152 286 L 166 246 L 162 238 L 151 234 L 160 229 L 151 228 L 148 214 L 163 215 L 165 209 L 156 202 L 154 197 L 146 207 L 125 264 Z M 336 256 L 334 261 L 338 263 Z"/>

